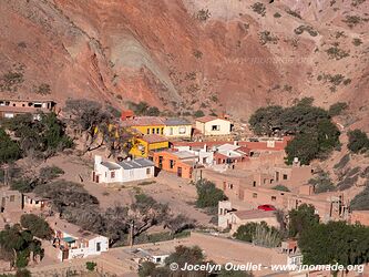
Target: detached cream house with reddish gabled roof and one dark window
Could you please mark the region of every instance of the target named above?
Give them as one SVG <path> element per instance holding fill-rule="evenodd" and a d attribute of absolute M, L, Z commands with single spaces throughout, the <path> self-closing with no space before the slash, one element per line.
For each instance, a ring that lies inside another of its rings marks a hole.
<path fill-rule="evenodd" d="M 205 136 L 229 135 L 232 124 L 216 116 L 203 116 L 196 119 L 196 129 Z"/>

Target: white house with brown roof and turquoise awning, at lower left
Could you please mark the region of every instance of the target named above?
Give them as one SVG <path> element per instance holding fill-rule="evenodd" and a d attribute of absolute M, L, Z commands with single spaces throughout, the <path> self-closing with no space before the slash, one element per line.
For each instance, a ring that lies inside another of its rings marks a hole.
<path fill-rule="evenodd" d="M 82 230 L 60 217 L 49 217 L 47 220 L 53 229 L 53 246 L 59 250 L 58 259 L 75 259 L 100 255 L 109 249 L 109 238 Z"/>

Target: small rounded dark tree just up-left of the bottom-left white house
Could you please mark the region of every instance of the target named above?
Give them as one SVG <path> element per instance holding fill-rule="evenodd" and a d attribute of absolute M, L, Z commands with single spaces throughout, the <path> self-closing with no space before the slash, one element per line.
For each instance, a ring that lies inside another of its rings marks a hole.
<path fill-rule="evenodd" d="M 41 239 L 51 239 L 52 229 L 49 224 L 41 217 L 33 214 L 21 216 L 20 224 L 23 228 L 29 229 L 31 234 Z"/>

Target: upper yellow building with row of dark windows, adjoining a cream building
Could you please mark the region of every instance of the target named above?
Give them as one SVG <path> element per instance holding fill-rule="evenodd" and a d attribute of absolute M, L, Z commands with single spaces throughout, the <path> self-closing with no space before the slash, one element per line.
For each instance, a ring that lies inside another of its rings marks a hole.
<path fill-rule="evenodd" d="M 131 127 L 143 135 L 150 135 L 150 134 L 164 134 L 164 122 L 160 117 L 155 116 L 137 116 L 134 119 L 122 121 L 123 127 Z"/>

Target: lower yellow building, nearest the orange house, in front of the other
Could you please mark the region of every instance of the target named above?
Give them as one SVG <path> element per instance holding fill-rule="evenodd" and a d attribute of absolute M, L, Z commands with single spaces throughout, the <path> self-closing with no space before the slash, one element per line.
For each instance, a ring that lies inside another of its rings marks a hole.
<path fill-rule="evenodd" d="M 166 137 L 157 134 L 143 135 L 142 137 L 133 138 L 130 154 L 134 157 L 147 157 L 151 152 L 165 150 L 170 147 L 170 142 Z"/>

